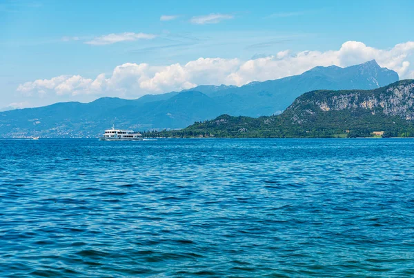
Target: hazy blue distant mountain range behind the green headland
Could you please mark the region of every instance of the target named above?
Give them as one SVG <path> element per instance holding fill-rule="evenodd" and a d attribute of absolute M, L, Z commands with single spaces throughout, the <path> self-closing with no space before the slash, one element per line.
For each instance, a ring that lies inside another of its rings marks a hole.
<path fill-rule="evenodd" d="M 236 86 L 197 86 L 182 92 L 127 100 L 103 97 L 90 103 L 55 103 L 0 112 L 0 137 L 97 137 L 106 128 L 185 128 L 195 121 L 228 114 L 279 114 L 311 90 L 375 89 L 398 81 L 375 61 L 348 68 L 316 67 L 302 75 Z"/>

